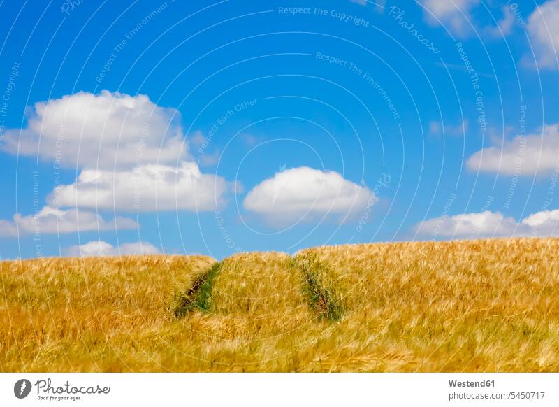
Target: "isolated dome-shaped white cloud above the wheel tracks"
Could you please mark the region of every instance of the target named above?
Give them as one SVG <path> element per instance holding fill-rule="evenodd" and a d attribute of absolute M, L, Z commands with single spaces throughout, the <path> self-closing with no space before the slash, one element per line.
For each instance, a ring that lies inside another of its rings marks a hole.
<path fill-rule="evenodd" d="M 345 180 L 334 171 L 307 166 L 275 173 L 245 197 L 246 210 L 269 222 L 293 222 L 316 215 L 350 215 L 376 201 L 367 187 Z"/>

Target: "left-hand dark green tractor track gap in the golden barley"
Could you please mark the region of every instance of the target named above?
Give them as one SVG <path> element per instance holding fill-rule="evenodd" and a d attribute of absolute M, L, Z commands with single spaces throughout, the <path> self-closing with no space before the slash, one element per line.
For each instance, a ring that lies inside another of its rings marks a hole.
<path fill-rule="evenodd" d="M 177 299 L 177 307 L 175 308 L 175 317 L 180 318 L 194 310 L 210 312 L 210 303 L 212 299 L 212 289 L 214 280 L 221 264 L 214 264 L 208 271 L 202 273 L 187 292 L 183 292 Z"/>

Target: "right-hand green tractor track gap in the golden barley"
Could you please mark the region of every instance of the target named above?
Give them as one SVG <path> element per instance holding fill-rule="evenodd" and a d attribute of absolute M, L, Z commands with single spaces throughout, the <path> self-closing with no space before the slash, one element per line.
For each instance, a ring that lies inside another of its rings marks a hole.
<path fill-rule="evenodd" d="M 298 255 L 293 262 L 296 269 L 303 273 L 303 293 L 319 319 L 341 320 L 344 308 L 340 296 L 334 287 L 324 283 L 328 265 L 314 255 Z"/>

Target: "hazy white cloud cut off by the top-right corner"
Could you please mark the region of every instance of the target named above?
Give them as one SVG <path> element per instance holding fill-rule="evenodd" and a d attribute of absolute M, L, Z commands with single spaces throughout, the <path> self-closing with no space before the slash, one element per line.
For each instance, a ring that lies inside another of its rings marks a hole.
<path fill-rule="evenodd" d="M 559 47 L 559 1 L 549 0 L 528 17 L 530 42 L 539 66 L 557 69 Z M 525 57 L 525 61 L 531 59 Z"/>

